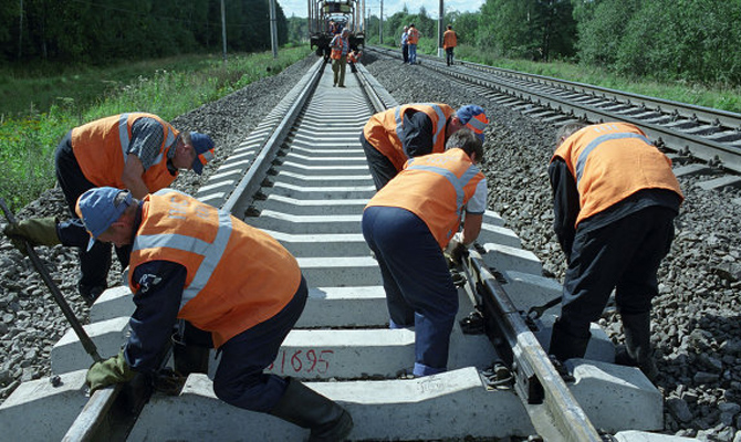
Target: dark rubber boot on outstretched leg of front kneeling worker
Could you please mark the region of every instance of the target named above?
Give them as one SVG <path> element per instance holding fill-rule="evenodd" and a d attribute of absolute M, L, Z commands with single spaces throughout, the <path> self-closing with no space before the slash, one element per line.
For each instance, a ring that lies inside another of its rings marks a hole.
<path fill-rule="evenodd" d="M 290 378 L 285 393 L 270 414 L 311 429 L 309 442 L 344 441 L 353 429 L 353 418 L 347 410 Z"/>

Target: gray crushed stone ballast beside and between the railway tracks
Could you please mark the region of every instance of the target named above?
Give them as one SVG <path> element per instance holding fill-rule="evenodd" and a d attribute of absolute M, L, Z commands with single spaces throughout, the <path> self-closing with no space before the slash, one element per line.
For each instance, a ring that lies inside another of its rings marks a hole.
<path fill-rule="evenodd" d="M 310 56 L 175 118 L 179 129 L 210 134 L 218 150 L 202 176 L 185 173 L 174 187 L 196 193 L 315 61 Z M 487 109 L 491 124 L 483 168 L 489 207 L 543 261 L 545 275 L 562 280 L 564 256 L 552 231 L 546 173 L 555 128 L 419 66 L 375 60 L 369 53 L 363 63 L 398 103 L 442 102 L 453 107 L 474 103 Z M 686 201 L 676 220 L 671 252 L 659 272 L 660 294 L 651 315 L 661 371 L 657 386 L 666 399 L 665 433 L 741 441 L 741 192 L 701 190 L 695 187 L 699 180 L 702 177 L 680 178 Z M 17 215 L 65 218 L 62 194 L 50 189 Z M 38 251 L 75 314 L 85 320 L 87 308 L 76 293 L 76 252 L 61 246 Z M 118 283 L 116 270 L 111 272 L 111 284 Z M 605 312 L 601 324 L 615 343 L 620 341 L 614 309 Z M 67 328 L 29 260 L 0 239 L 0 403 L 20 382 L 50 375 L 51 348 Z"/>

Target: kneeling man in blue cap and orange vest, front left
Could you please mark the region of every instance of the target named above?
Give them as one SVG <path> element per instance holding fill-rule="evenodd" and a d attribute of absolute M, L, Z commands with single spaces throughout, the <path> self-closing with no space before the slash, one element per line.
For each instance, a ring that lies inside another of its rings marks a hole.
<path fill-rule="evenodd" d="M 264 373 L 303 312 L 307 288 L 278 241 L 229 213 L 163 189 L 142 201 L 103 187 L 80 197 L 77 214 L 95 240 L 133 244 L 129 286 L 136 311 L 121 352 L 87 371 L 91 391 L 153 373 L 174 326 L 208 334 L 221 352 L 213 392 L 234 407 L 311 429 L 310 441 L 340 441 L 353 420 L 301 382 Z M 186 335 L 187 336 L 187 335 Z"/>

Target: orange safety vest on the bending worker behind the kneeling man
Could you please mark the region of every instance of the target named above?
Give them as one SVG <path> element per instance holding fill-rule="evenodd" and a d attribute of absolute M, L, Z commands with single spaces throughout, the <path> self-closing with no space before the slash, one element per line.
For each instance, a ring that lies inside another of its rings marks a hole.
<path fill-rule="evenodd" d="M 145 170 L 142 179 L 150 192 L 169 186 L 177 171 L 167 169 L 167 152 L 177 139 L 178 131 L 153 114 L 131 113 L 96 119 L 72 129 L 72 150 L 83 175 L 95 186 L 125 189 L 121 177 L 132 141 L 132 125 L 139 118 L 154 118 L 163 125 L 163 144 L 155 162 Z"/>

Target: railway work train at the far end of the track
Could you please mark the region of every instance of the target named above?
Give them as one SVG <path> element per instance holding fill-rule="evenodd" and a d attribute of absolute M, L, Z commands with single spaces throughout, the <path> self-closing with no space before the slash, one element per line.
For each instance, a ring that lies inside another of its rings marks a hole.
<path fill-rule="evenodd" d="M 349 30 L 351 49 L 365 45 L 365 0 L 310 0 L 309 39 L 316 55 L 330 57 L 330 42 L 335 33 Z"/>

